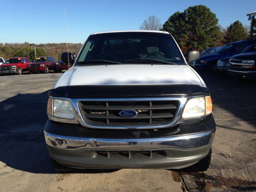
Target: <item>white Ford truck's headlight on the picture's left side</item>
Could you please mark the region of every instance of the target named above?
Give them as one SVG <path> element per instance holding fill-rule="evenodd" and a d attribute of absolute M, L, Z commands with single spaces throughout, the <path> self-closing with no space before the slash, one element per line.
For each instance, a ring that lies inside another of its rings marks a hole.
<path fill-rule="evenodd" d="M 47 113 L 50 116 L 74 119 L 75 114 L 71 103 L 66 99 L 49 98 L 47 105 Z"/>

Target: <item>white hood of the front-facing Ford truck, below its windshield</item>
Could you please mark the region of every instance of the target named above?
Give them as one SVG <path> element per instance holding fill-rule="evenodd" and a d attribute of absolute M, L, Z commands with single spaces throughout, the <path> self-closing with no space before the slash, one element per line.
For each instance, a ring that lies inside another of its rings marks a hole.
<path fill-rule="evenodd" d="M 73 66 L 54 88 L 78 85 L 164 85 L 193 84 L 206 87 L 200 76 L 187 65 L 97 65 Z"/>

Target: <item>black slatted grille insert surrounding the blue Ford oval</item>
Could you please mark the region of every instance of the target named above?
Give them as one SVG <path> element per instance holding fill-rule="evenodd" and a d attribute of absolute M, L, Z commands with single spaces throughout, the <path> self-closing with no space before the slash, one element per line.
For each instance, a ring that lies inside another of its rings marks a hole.
<path fill-rule="evenodd" d="M 82 118 L 94 126 L 156 126 L 172 122 L 179 101 L 80 101 Z M 123 110 L 136 110 L 136 117 L 122 117 Z"/>

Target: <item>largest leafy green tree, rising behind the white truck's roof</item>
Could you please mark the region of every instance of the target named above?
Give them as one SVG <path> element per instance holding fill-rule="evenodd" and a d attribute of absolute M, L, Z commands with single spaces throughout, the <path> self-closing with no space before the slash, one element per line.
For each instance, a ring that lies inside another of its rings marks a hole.
<path fill-rule="evenodd" d="M 170 32 L 179 46 L 186 46 L 188 50 L 213 47 L 221 40 L 216 14 L 204 5 L 190 6 L 182 13 L 174 13 L 161 30 Z"/>

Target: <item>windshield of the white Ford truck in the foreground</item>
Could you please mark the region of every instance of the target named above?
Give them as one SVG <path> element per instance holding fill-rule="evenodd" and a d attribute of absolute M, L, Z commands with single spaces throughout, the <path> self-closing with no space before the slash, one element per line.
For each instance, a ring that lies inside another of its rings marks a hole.
<path fill-rule="evenodd" d="M 87 61 L 98 64 L 95 60 L 111 61 L 112 64 L 148 64 L 157 63 L 159 60 L 166 63 L 184 63 L 170 34 L 156 32 L 113 32 L 91 35 L 78 58 L 78 64 L 90 64 Z"/>

